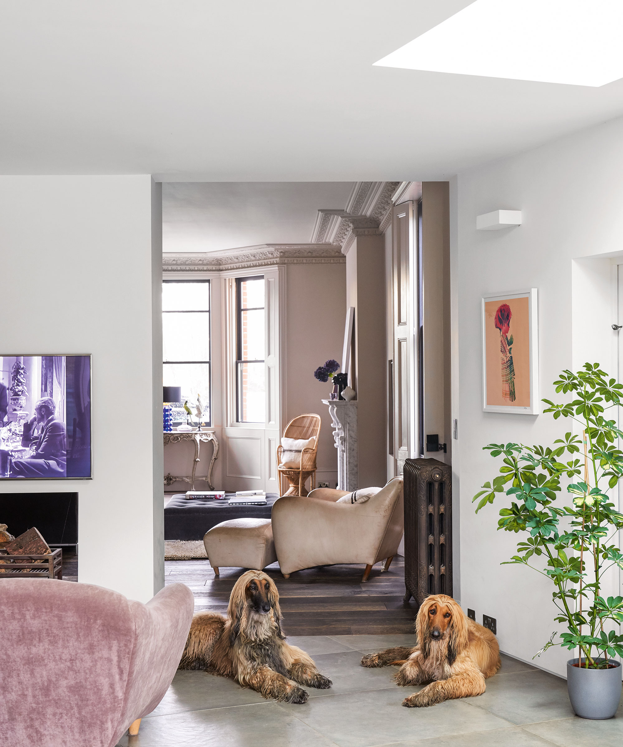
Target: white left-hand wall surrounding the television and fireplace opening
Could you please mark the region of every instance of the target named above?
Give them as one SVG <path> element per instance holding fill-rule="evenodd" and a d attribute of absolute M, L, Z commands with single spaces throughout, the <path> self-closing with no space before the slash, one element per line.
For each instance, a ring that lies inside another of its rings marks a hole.
<path fill-rule="evenodd" d="M 162 214 L 150 176 L 0 177 L 4 353 L 92 353 L 93 480 L 79 493 L 79 580 L 147 601 L 164 586 Z"/>

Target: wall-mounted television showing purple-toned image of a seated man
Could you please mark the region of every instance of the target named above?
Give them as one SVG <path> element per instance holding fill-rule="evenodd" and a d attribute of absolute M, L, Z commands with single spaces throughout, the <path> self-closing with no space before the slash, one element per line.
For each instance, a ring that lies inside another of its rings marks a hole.
<path fill-rule="evenodd" d="M 0 356 L 0 480 L 90 479 L 90 356 Z"/>

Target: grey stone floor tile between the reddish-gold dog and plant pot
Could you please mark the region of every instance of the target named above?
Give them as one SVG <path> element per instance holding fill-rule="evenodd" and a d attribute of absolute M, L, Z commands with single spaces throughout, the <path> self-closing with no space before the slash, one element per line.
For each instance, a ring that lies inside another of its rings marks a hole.
<path fill-rule="evenodd" d="M 574 715 L 566 681 L 538 669 L 491 677 L 482 695 L 465 701 L 518 725 Z"/>

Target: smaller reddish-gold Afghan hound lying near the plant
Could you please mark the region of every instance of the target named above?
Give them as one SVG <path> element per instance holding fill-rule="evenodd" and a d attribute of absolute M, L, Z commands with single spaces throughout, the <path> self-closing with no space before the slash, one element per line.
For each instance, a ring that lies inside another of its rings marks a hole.
<path fill-rule="evenodd" d="M 370 667 L 402 664 L 395 678 L 399 685 L 426 684 L 402 705 L 426 707 L 482 695 L 485 679 L 500 669 L 497 638 L 465 616 L 452 597 L 435 594 L 426 598 L 415 619 L 415 632 L 415 647 L 387 648 L 361 660 Z"/>

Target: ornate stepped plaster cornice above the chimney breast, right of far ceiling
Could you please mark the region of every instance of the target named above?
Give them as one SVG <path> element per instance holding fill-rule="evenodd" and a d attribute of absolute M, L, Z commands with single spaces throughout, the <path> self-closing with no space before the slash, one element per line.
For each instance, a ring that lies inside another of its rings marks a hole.
<path fill-rule="evenodd" d="M 322 208 L 313 244 L 333 244 L 346 254 L 357 236 L 382 234 L 391 223 L 392 195 L 400 182 L 357 182 L 345 210 Z"/>

